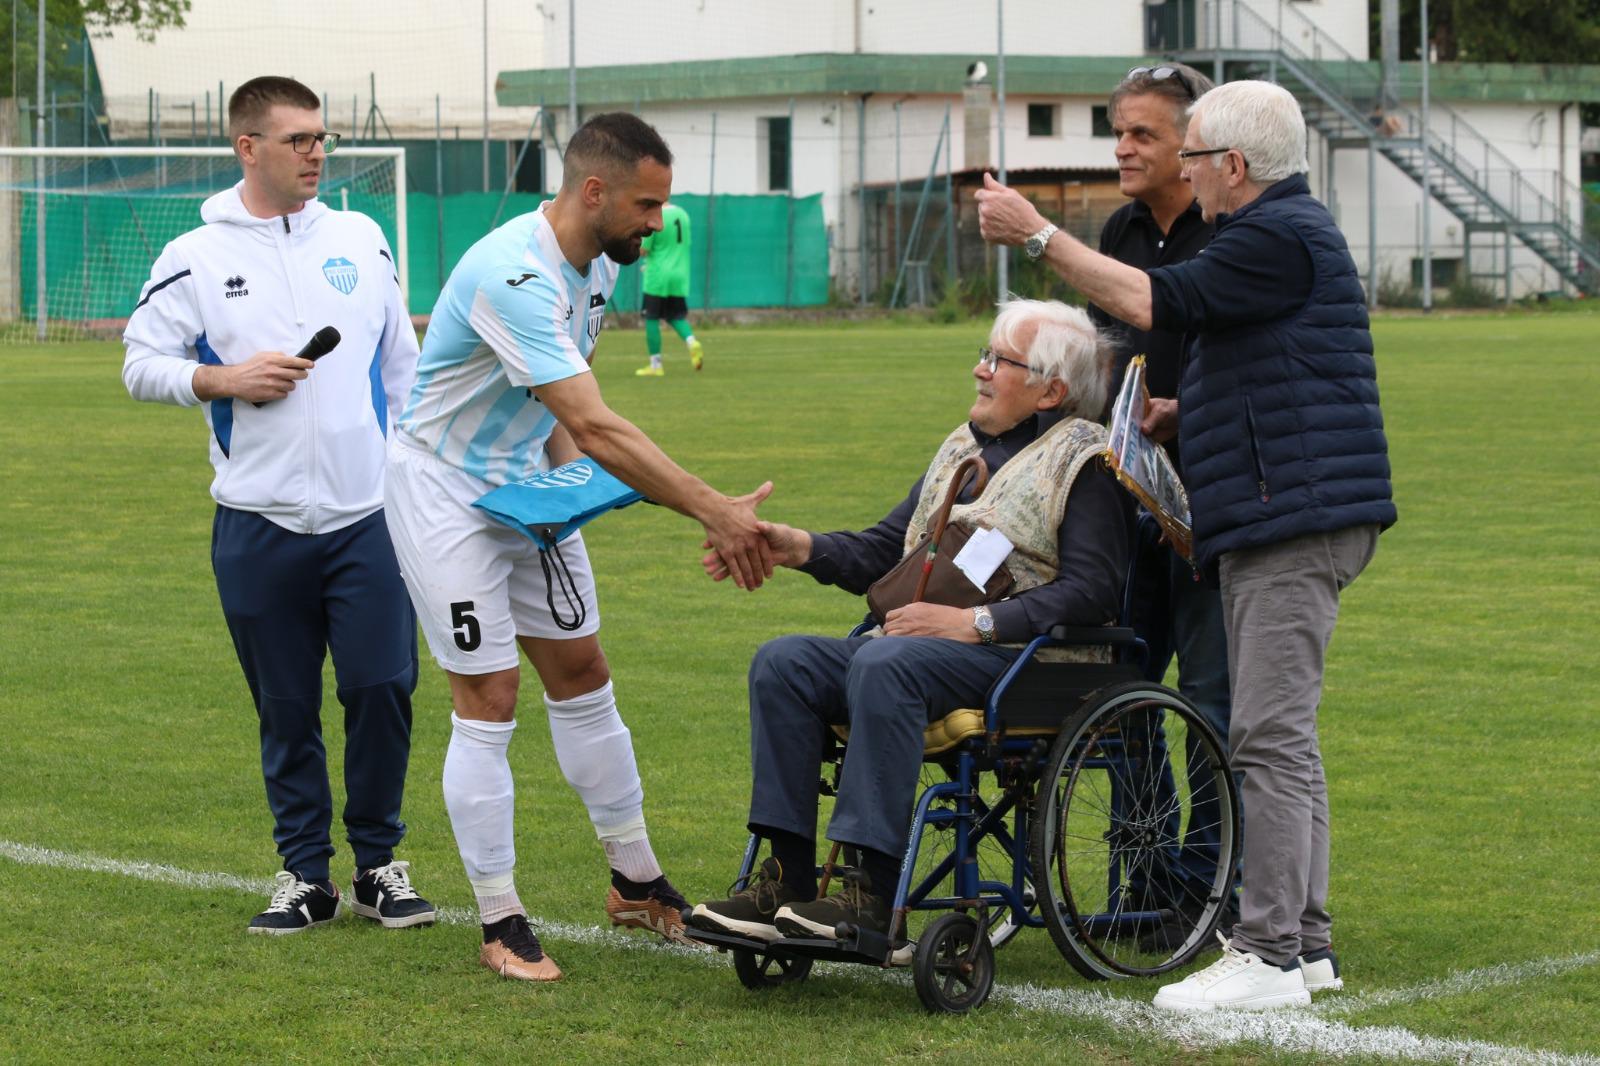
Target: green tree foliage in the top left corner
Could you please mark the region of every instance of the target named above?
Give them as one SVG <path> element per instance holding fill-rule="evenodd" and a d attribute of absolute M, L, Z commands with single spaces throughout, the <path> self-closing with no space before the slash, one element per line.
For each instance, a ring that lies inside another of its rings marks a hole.
<path fill-rule="evenodd" d="M 75 88 L 82 82 L 83 35 L 133 29 L 142 40 L 181 27 L 190 0 L 45 0 L 45 80 Z M 0 0 L 0 96 L 32 96 L 38 72 L 37 0 Z"/>

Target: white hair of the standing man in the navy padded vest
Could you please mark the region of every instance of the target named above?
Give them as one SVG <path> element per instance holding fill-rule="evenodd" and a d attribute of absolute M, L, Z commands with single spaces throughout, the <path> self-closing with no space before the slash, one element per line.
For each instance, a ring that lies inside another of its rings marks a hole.
<path fill-rule="evenodd" d="M 1229 82 L 1189 107 L 1197 133 L 1210 147 L 1245 157 L 1250 179 L 1270 186 L 1310 170 L 1306 160 L 1306 117 L 1294 96 L 1272 82 Z M 1221 166 L 1222 155 L 1213 155 Z"/>

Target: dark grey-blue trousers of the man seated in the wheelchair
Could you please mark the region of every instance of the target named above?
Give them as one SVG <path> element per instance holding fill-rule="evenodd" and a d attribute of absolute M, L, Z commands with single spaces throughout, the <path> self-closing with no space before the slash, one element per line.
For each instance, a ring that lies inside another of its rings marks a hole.
<path fill-rule="evenodd" d="M 779 637 L 750 663 L 750 831 L 816 839 L 829 727 L 848 725 L 829 840 L 906 850 L 922 731 L 981 707 L 1021 651 L 938 637 Z"/>

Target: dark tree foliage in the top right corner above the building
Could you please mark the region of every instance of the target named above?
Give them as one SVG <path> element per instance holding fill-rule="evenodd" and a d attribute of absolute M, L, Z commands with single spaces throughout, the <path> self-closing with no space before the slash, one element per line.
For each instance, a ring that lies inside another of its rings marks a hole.
<path fill-rule="evenodd" d="M 1371 3 L 1371 54 L 1382 5 Z M 1600 0 L 1429 0 L 1429 38 L 1443 62 L 1597 62 Z M 1418 59 L 1421 2 L 1400 0 L 1400 58 Z"/>

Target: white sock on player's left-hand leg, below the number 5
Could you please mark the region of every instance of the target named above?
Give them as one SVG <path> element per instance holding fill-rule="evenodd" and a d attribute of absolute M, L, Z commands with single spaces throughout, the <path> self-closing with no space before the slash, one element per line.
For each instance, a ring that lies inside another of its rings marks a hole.
<path fill-rule="evenodd" d="M 450 747 L 445 752 L 445 810 L 456 834 L 461 864 L 478 896 L 483 924 L 522 914 L 512 869 L 517 866 L 514 834 L 515 786 L 506 749 L 515 722 L 478 722 L 450 715 Z"/>

